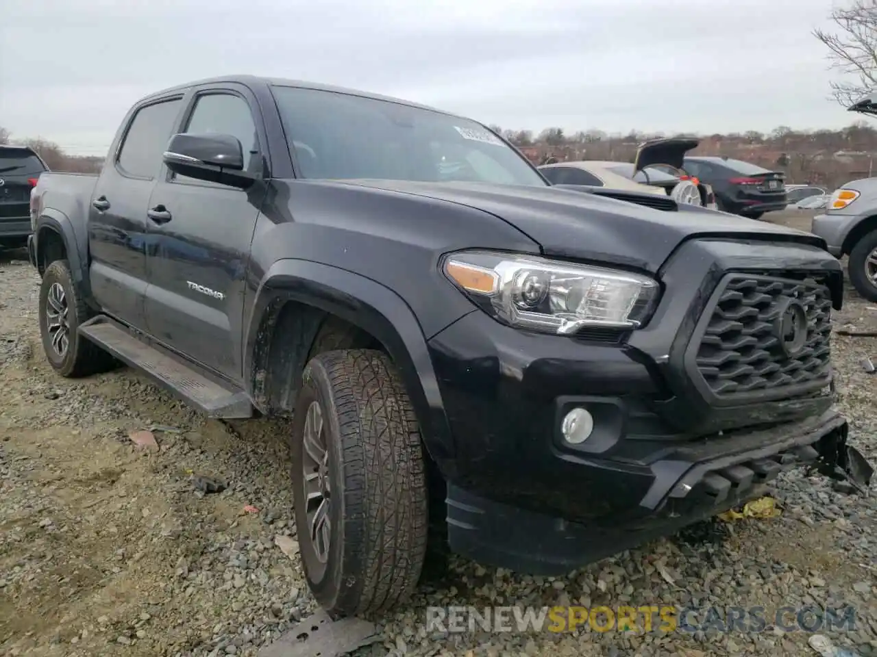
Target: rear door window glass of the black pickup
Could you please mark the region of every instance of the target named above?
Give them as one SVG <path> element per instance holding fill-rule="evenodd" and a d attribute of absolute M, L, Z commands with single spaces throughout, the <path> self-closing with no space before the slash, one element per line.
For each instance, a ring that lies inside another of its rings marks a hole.
<path fill-rule="evenodd" d="M 179 111 L 179 98 L 137 110 L 118 153 L 118 166 L 124 173 L 148 179 L 158 175 L 161 153 L 168 145 Z"/>

